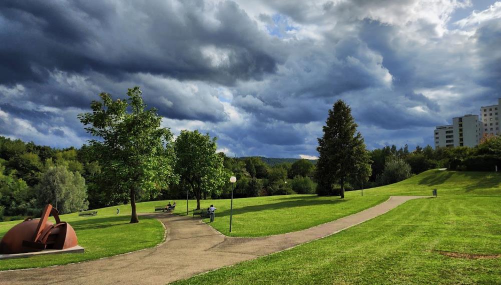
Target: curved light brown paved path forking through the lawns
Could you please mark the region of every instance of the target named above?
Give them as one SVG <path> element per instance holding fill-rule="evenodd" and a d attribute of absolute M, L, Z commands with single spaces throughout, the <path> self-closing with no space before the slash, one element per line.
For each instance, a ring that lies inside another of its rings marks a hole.
<path fill-rule="evenodd" d="M 337 233 L 421 197 L 392 196 L 386 202 L 332 222 L 253 238 L 225 236 L 191 217 L 152 215 L 167 229 L 167 239 L 157 247 L 75 264 L 2 271 L 0 284 L 165 284 Z"/>

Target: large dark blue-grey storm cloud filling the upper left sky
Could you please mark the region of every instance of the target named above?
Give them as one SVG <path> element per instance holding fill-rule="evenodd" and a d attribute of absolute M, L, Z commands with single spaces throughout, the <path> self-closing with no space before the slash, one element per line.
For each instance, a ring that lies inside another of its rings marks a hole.
<path fill-rule="evenodd" d="M 232 2 L 213 9 L 201 1 L 104 2 L 99 13 L 97 3 L 79 1 L 0 5 L 0 21 L 8 27 L 0 33 L 0 83 L 43 81 L 47 70 L 58 69 L 232 84 L 273 73 L 283 60 L 280 42 L 258 31 Z M 214 62 L 204 47 L 215 47 L 223 61 Z"/>

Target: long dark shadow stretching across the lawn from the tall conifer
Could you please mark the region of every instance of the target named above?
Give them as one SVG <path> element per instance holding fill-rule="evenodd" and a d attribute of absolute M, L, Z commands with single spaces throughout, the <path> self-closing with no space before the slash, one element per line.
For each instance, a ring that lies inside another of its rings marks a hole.
<path fill-rule="evenodd" d="M 296 197 L 297 198 L 297 197 Z M 346 202 L 346 199 L 336 199 L 336 200 L 320 200 L 315 197 L 311 197 L 310 199 L 300 199 L 293 201 L 284 201 L 273 204 L 264 204 L 264 205 L 252 205 L 252 206 L 244 206 L 241 208 L 233 208 L 233 215 L 244 214 L 247 212 L 259 212 L 264 210 L 279 210 L 279 209 L 287 209 L 287 208 L 296 208 L 296 207 L 304 207 L 304 206 L 316 206 L 316 205 L 334 205 Z M 216 207 L 217 205 L 214 204 Z M 233 203 L 234 205 L 234 203 Z M 218 217 L 229 216 L 230 210 L 224 210 L 217 212 L 216 215 Z"/>

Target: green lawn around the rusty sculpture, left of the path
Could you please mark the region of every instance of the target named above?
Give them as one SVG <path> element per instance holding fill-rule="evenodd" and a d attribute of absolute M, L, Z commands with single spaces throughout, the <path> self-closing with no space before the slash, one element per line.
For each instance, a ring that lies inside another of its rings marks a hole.
<path fill-rule="evenodd" d="M 47 267 L 113 256 L 147 247 L 162 242 L 164 229 L 160 221 L 141 218 L 140 223 L 129 224 L 129 215 L 71 217 L 63 215 L 62 220 L 69 222 L 75 229 L 79 245 L 84 253 L 50 254 L 0 260 L 0 270 Z M 0 238 L 20 221 L 0 223 Z"/>

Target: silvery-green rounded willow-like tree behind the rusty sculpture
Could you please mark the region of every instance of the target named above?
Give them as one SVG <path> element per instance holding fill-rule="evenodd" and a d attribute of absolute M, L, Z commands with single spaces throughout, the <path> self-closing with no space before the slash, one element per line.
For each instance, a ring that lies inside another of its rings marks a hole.
<path fill-rule="evenodd" d="M 71 172 L 64 166 L 51 167 L 40 179 L 37 186 L 38 201 L 42 208 L 52 204 L 62 214 L 87 210 L 85 179 L 79 172 Z"/>

